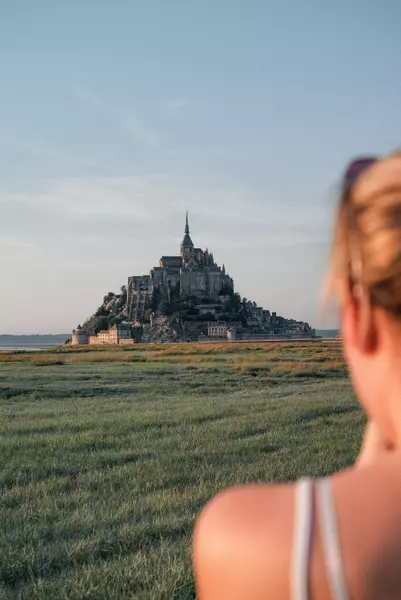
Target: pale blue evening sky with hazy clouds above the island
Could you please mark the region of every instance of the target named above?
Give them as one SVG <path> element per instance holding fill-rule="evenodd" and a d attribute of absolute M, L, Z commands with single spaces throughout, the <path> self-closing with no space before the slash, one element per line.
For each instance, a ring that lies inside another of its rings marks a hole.
<path fill-rule="evenodd" d="M 195 245 L 316 328 L 347 161 L 401 140 L 401 3 L 0 3 L 0 334 Z"/>

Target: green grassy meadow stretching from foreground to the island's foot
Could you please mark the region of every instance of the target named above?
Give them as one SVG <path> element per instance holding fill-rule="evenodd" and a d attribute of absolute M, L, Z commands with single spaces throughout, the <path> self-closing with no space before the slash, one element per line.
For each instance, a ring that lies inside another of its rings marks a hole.
<path fill-rule="evenodd" d="M 0 600 L 194 598 L 226 486 L 325 475 L 363 416 L 335 344 L 0 354 Z"/>

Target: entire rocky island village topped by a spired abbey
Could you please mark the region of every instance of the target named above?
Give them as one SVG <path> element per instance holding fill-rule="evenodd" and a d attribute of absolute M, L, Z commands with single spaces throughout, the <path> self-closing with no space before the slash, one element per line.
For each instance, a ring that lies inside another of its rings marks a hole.
<path fill-rule="evenodd" d="M 133 344 L 313 337 L 308 323 L 285 319 L 235 292 L 234 281 L 209 250 L 196 248 L 188 213 L 180 253 L 162 256 L 147 275 L 109 292 L 69 343 Z"/>

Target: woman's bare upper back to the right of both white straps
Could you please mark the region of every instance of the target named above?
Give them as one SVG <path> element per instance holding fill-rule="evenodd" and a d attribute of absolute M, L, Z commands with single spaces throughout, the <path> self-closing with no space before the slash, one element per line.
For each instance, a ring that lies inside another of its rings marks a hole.
<path fill-rule="evenodd" d="M 397 456 L 332 478 L 342 562 L 351 597 L 399 597 L 400 472 Z"/>

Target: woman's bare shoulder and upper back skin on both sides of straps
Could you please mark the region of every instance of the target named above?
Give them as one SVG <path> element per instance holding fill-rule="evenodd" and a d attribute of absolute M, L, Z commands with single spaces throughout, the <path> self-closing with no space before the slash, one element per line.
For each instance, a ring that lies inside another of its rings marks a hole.
<path fill-rule="evenodd" d="M 353 598 L 394 598 L 401 589 L 400 466 L 396 457 L 332 478 L 342 562 Z M 290 597 L 294 490 L 294 485 L 238 487 L 206 505 L 193 540 L 199 600 Z M 320 528 L 316 514 L 311 590 L 314 597 L 329 598 Z"/>

